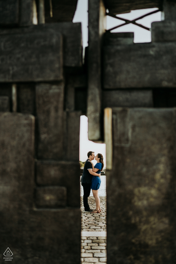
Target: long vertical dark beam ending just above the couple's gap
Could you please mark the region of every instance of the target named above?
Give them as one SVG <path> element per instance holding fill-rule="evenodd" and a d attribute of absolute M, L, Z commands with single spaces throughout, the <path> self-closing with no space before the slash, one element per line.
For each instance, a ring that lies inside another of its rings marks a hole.
<path fill-rule="evenodd" d="M 106 10 L 102 0 L 89 0 L 88 10 L 88 138 L 100 140 L 101 42 L 106 28 Z"/>

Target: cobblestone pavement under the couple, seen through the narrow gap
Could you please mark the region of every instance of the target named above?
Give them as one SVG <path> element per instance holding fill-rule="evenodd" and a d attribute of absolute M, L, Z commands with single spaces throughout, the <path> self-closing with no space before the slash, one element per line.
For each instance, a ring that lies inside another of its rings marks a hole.
<path fill-rule="evenodd" d="M 96 208 L 94 197 L 88 198 L 91 209 Z M 84 213 L 83 199 L 81 197 L 82 231 L 106 232 L 106 197 L 100 197 L 102 212 L 99 214 Z M 99 236 L 81 237 L 81 263 L 82 264 L 106 264 L 106 237 Z"/>

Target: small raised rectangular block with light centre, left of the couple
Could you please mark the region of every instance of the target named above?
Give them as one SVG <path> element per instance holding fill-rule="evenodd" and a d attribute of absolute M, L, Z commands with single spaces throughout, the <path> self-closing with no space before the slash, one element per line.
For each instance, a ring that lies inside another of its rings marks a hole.
<path fill-rule="evenodd" d="M 35 202 L 37 207 L 65 207 L 66 200 L 67 191 L 63 186 L 45 186 L 36 188 Z"/>

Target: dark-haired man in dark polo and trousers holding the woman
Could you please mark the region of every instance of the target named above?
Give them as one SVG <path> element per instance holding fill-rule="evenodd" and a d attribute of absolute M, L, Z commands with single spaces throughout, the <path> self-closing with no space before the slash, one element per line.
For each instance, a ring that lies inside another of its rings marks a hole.
<path fill-rule="evenodd" d="M 88 159 L 84 164 L 83 175 L 81 177 L 81 185 L 83 186 L 83 191 L 84 191 L 84 195 L 83 195 L 84 212 L 91 213 L 94 210 L 90 209 L 89 207 L 88 197 L 91 192 L 92 176 L 94 175 L 100 177 L 100 175 L 96 172 L 93 172 L 92 164 L 91 162 L 89 162 L 89 161 L 93 161 L 93 159 L 95 158 L 94 152 L 89 151 L 87 153 L 87 157 Z"/>

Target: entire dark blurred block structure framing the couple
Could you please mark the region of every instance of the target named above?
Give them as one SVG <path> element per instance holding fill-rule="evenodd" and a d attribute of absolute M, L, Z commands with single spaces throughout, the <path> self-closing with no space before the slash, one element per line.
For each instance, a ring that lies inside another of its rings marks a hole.
<path fill-rule="evenodd" d="M 174 264 L 176 3 L 89 0 L 84 65 L 76 6 L 0 1 L 0 257 L 80 263 L 84 114 L 106 143 L 107 263 Z M 165 20 L 151 29 L 124 19 L 151 43 L 106 30 L 107 15 L 153 7 Z"/>

